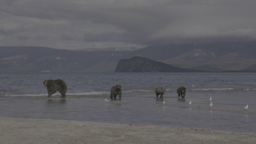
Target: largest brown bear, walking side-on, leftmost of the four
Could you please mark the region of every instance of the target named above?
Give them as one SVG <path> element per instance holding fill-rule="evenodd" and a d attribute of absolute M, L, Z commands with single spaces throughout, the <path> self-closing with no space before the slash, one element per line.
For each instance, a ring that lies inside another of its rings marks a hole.
<path fill-rule="evenodd" d="M 44 86 L 47 87 L 48 98 L 56 91 L 59 91 L 62 98 L 66 98 L 66 91 L 68 89 L 66 82 L 64 80 L 44 80 Z"/>

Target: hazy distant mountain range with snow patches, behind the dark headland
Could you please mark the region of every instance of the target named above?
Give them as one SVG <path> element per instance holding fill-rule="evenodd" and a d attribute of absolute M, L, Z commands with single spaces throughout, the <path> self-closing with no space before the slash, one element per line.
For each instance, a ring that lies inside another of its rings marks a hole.
<path fill-rule="evenodd" d="M 81 50 L 10 46 L 0 47 L 0 72 L 114 72 L 120 60 L 134 56 L 195 70 L 255 71 L 255 54 L 256 42 Z"/>

